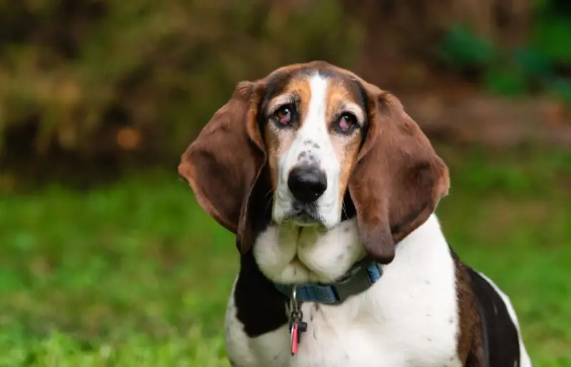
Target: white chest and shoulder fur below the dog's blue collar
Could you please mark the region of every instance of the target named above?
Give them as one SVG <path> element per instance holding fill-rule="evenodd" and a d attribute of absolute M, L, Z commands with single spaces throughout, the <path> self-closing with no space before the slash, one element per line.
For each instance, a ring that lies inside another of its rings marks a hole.
<path fill-rule="evenodd" d="M 236 367 L 456 367 L 457 308 L 453 258 L 431 216 L 400 243 L 368 291 L 338 306 L 303 303 L 308 330 L 296 356 L 288 326 L 248 338 L 233 295 L 226 349 Z"/>

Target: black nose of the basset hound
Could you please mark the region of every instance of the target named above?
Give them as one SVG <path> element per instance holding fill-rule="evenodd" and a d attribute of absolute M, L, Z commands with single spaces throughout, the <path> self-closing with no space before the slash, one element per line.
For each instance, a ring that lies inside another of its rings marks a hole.
<path fill-rule="evenodd" d="M 303 203 L 313 203 L 327 189 L 325 172 L 315 166 L 297 166 L 290 171 L 288 187 L 293 197 Z"/>

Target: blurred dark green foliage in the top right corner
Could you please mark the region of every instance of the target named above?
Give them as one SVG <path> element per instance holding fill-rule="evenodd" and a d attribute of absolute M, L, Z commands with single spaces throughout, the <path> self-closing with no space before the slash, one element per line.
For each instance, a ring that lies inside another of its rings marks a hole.
<path fill-rule="evenodd" d="M 530 39 L 516 49 L 500 49 L 464 26 L 454 26 L 440 43 L 440 56 L 456 70 L 477 71 L 486 89 L 504 96 L 537 91 L 571 104 L 571 6 L 536 1 Z"/>

